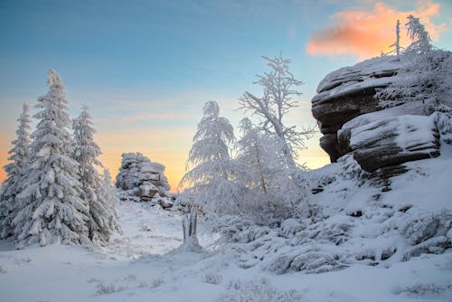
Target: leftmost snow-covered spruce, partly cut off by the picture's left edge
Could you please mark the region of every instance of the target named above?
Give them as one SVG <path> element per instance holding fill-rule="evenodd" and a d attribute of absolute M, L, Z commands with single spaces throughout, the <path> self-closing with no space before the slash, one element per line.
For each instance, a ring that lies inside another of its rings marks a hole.
<path fill-rule="evenodd" d="M 19 127 L 15 131 L 16 139 L 12 142 L 14 147 L 8 152 L 8 160 L 12 161 L 5 165 L 6 179 L 3 191 L 0 193 L 0 238 L 5 239 L 14 236 L 12 221 L 16 213 L 15 196 L 20 193 L 20 184 L 24 175 L 25 166 L 30 156 L 30 113 L 25 103 L 22 115 L 17 121 Z"/>

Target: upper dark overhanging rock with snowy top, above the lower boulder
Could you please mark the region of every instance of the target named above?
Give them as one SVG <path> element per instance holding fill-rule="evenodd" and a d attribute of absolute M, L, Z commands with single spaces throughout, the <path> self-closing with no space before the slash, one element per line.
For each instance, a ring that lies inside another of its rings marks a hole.
<path fill-rule="evenodd" d="M 394 80 L 400 67 L 392 57 L 374 58 L 333 71 L 320 82 L 311 111 L 324 135 L 320 146 L 332 162 L 350 151 L 339 144 L 337 131 L 349 120 L 379 110 L 373 96 Z"/>

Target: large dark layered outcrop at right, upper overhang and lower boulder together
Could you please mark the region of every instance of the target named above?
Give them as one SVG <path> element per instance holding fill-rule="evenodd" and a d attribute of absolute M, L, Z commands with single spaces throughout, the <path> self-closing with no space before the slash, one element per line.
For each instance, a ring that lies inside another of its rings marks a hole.
<path fill-rule="evenodd" d="M 381 57 L 328 74 L 312 99 L 320 146 L 332 162 L 348 153 L 368 172 L 439 156 L 434 117 L 403 107 L 381 110 L 376 90 L 397 80 L 400 61 Z"/>

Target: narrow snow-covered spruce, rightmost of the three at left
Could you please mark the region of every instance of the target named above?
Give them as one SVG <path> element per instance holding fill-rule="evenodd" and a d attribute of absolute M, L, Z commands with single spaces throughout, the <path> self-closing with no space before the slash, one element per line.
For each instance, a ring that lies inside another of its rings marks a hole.
<path fill-rule="evenodd" d="M 73 157 L 79 163 L 78 175 L 82 189 L 80 197 L 89 205 L 89 240 L 106 244 L 111 233 L 117 231 L 118 222 L 114 200 L 108 194 L 100 192 L 104 189 L 104 183 L 95 166 L 102 167 L 98 159 L 101 152 L 94 141 L 95 130 L 91 119 L 88 106 L 84 105 L 80 116 L 73 120 Z"/>

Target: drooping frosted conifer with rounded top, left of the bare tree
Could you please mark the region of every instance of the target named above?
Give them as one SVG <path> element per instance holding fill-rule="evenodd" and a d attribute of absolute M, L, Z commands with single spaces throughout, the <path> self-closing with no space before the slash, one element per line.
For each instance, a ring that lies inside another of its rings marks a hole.
<path fill-rule="evenodd" d="M 191 185 L 188 190 L 202 211 L 230 213 L 238 200 L 237 188 L 231 182 L 234 169 L 229 146 L 235 139 L 233 129 L 227 118 L 219 116 L 220 108 L 215 101 L 205 103 L 202 109 L 204 116 L 187 160 L 189 171 L 179 186 Z"/>

